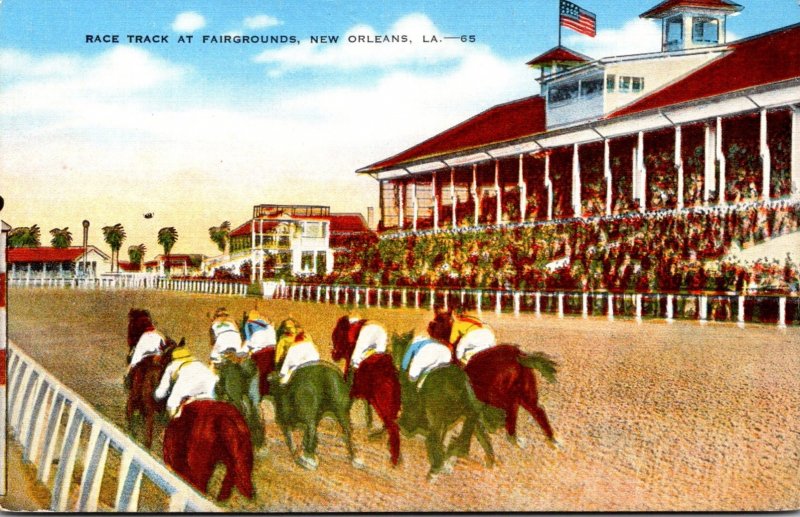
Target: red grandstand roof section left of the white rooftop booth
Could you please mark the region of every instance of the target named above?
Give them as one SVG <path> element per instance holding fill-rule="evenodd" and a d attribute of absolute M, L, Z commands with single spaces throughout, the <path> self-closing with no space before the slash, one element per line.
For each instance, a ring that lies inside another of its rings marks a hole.
<path fill-rule="evenodd" d="M 359 172 L 389 169 L 423 158 L 516 140 L 542 133 L 545 129 L 544 97 L 526 97 L 489 108 L 400 154 L 364 167 Z"/>

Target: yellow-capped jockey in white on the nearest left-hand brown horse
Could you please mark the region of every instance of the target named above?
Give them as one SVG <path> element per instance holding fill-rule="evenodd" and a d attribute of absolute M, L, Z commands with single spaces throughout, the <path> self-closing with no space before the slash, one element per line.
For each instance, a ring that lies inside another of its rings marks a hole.
<path fill-rule="evenodd" d="M 156 400 L 163 400 L 169 395 L 167 411 L 170 417 L 174 418 L 183 403 L 198 399 L 213 400 L 214 387 L 218 379 L 214 372 L 197 360 L 186 346 L 179 346 L 173 350 L 171 359 L 153 397 Z"/>

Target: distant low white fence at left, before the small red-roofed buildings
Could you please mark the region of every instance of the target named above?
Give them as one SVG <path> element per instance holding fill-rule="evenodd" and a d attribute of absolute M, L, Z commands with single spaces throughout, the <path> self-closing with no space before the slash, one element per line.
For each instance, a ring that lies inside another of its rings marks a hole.
<path fill-rule="evenodd" d="M 9 287 L 45 287 L 72 289 L 153 289 L 193 293 L 247 296 L 247 284 L 223 280 L 173 280 L 155 276 L 107 276 L 99 278 L 35 278 L 8 279 Z"/>

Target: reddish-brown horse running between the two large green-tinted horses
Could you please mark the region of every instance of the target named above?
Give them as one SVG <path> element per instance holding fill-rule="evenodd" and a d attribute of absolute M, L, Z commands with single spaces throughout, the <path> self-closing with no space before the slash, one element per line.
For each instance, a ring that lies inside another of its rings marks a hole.
<path fill-rule="evenodd" d="M 400 413 L 400 382 L 397 380 L 397 368 L 392 356 L 388 353 L 374 353 L 364 359 L 358 368 L 351 370 L 350 361 L 356 345 L 358 333 L 366 320 L 356 324 L 350 318 L 342 316 L 336 322 L 331 339 L 334 361 L 344 359 L 344 378 L 350 384 L 350 398 L 366 401 L 367 429 L 372 425 L 372 411 L 383 421 L 383 427 L 389 436 L 389 453 L 392 465 L 400 460 L 400 428 L 397 417 Z"/>

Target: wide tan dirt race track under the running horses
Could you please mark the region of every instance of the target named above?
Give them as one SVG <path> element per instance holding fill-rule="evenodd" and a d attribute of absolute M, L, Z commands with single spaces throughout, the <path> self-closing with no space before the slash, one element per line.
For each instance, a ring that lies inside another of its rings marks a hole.
<path fill-rule="evenodd" d="M 130 307 L 150 309 L 159 330 L 186 336 L 198 356 L 208 357 L 208 313 L 226 306 L 238 317 L 255 303 L 183 293 L 12 289 L 9 337 L 122 427 Z M 264 300 L 258 307 L 273 320 L 297 318 L 330 357 L 330 332 L 345 313 L 342 307 Z M 359 314 L 390 331 L 424 328 L 431 316 L 413 309 Z M 473 441 L 470 457 L 452 474 L 428 483 L 423 439 L 403 438 L 402 463 L 392 468 L 385 439 L 367 438 L 358 402 L 352 411 L 354 439 L 366 468 L 350 466 L 338 427 L 325 420 L 319 469 L 309 472 L 293 462 L 271 404 L 263 402 L 267 445 L 256 458 L 257 495 L 248 501 L 234 492 L 225 506 L 296 512 L 800 507 L 800 329 L 489 313 L 484 319 L 499 341 L 559 361 L 558 382 L 540 382 L 540 402 L 561 450 L 548 447 L 523 412 L 519 434 L 527 448 L 495 433 L 493 468 L 485 466 Z M 156 455 L 160 443 L 159 438 Z"/>

